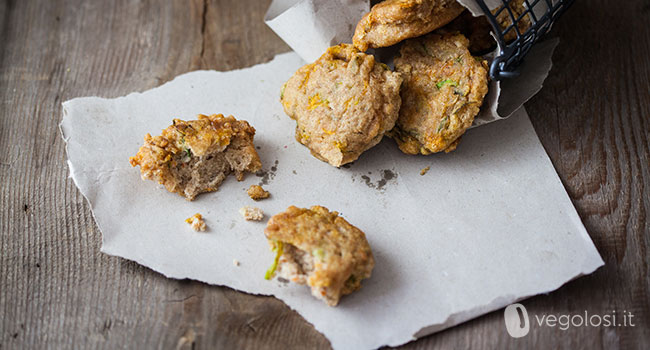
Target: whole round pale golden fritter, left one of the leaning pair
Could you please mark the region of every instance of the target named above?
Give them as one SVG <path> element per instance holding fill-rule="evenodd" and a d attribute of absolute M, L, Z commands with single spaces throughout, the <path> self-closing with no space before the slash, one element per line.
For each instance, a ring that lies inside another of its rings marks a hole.
<path fill-rule="evenodd" d="M 296 121 L 296 140 L 339 167 L 359 158 L 393 128 L 402 78 L 352 45 L 330 47 L 298 69 L 280 95 Z"/>

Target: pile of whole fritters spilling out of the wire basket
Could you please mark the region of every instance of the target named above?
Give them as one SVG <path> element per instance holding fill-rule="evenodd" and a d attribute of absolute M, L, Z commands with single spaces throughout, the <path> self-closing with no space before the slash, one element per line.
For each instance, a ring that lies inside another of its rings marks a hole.
<path fill-rule="evenodd" d="M 526 11 L 523 0 L 510 8 L 515 18 Z M 502 28 L 512 24 L 507 10 L 497 19 Z M 520 32 L 530 25 L 526 19 Z M 380 2 L 357 24 L 354 47 L 331 47 L 283 87 L 296 139 L 337 167 L 384 134 L 407 154 L 454 150 L 487 94 L 487 62 L 472 54 L 494 46 L 489 31 L 484 17 L 472 17 L 455 0 Z M 511 28 L 506 40 L 515 37 Z M 362 52 L 400 42 L 394 72 Z"/>

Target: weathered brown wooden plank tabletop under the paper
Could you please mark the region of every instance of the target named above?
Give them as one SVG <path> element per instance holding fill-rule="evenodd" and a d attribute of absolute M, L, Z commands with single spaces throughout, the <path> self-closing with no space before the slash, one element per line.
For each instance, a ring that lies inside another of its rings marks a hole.
<path fill-rule="evenodd" d="M 166 279 L 101 254 L 68 178 L 61 102 L 120 96 L 288 47 L 259 0 L 0 0 L 0 348 L 328 348 L 272 297 Z M 501 311 L 406 348 L 650 348 L 650 1 L 577 1 L 526 106 L 606 265 L 523 304 L 530 314 L 631 311 L 635 327 L 533 327 Z M 390 317 L 390 315 L 387 315 Z"/>

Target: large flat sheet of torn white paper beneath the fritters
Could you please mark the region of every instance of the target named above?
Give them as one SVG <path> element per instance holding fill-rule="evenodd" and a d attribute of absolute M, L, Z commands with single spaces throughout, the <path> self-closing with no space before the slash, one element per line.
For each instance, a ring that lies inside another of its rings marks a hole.
<path fill-rule="evenodd" d="M 468 131 L 449 154 L 407 156 L 385 139 L 337 169 L 294 140 L 295 123 L 278 102 L 282 84 L 303 64 L 287 53 L 249 69 L 184 74 L 117 99 L 65 102 L 70 173 L 93 209 L 102 251 L 168 277 L 274 295 L 336 349 L 403 344 L 603 264 L 523 109 Z M 142 181 L 128 158 L 143 135 L 198 113 L 233 114 L 255 126 L 265 175 L 230 177 L 193 202 Z M 245 189 L 257 183 L 271 198 L 248 198 Z M 272 215 L 315 204 L 362 229 L 376 260 L 363 288 L 335 308 L 305 286 L 264 280 L 273 260 L 265 224 L 238 213 L 244 205 Z M 206 233 L 184 223 L 196 212 Z"/>

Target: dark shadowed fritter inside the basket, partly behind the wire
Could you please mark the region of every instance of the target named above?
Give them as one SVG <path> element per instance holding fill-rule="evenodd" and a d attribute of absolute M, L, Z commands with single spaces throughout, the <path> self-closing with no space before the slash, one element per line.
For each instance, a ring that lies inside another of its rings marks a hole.
<path fill-rule="evenodd" d="M 492 13 L 496 13 L 499 9 L 495 9 Z M 526 11 L 524 0 L 513 0 L 510 3 L 510 9 L 512 10 L 513 16 L 519 18 Z M 512 25 L 512 19 L 507 10 L 499 13 L 497 16 L 497 22 L 503 30 Z M 530 26 L 530 15 L 526 15 L 517 22 L 517 28 L 521 34 L 525 33 Z M 469 39 L 469 51 L 475 55 L 486 53 L 496 46 L 496 41 L 494 41 L 494 38 L 490 35 L 492 27 L 487 18 L 485 18 L 485 16 L 474 17 L 468 10 L 464 11 L 460 16 L 458 16 L 458 18 L 442 29 L 445 32 L 458 31 L 465 35 Z M 514 28 L 504 35 L 506 42 L 510 42 L 516 38 L 517 33 Z"/>

